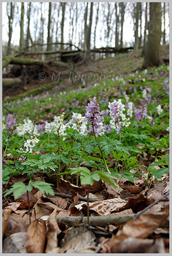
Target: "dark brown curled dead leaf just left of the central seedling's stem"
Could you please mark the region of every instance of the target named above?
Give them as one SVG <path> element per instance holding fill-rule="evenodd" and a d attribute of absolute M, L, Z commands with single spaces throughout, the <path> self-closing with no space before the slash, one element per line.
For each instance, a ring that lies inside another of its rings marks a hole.
<path fill-rule="evenodd" d="M 58 186 L 58 192 L 69 194 L 70 190 L 77 191 L 78 194 L 81 196 L 85 196 L 87 194 L 85 188 L 75 186 L 70 182 L 67 182 L 66 180 L 61 179 L 61 182 L 59 183 L 59 186 Z"/>

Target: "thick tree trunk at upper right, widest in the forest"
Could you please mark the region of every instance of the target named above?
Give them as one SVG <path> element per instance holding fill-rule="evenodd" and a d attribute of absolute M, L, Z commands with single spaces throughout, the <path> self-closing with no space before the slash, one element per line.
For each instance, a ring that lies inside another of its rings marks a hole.
<path fill-rule="evenodd" d="M 149 35 L 145 48 L 145 59 L 143 67 L 159 66 L 162 64 L 160 56 L 160 42 L 161 42 L 161 2 L 149 4 L 150 21 L 149 21 Z"/>

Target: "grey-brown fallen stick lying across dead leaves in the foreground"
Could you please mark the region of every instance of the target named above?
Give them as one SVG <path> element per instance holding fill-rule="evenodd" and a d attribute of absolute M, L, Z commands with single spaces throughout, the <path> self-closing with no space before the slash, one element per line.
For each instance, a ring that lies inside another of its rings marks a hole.
<path fill-rule="evenodd" d="M 156 212 L 153 215 L 163 215 L 163 212 Z M 89 218 L 91 226 L 106 227 L 106 225 L 123 225 L 129 220 L 132 220 L 135 214 L 128 215 L 109 215 L 109 216 L 93 216 Z M 87 217 L 75 217 L 75 216 L 56 216 L 57 222 L 63 222 L 67 226 L 74 226 L 76 223 L 87 224 Z M 169 223 L 169 220 L 167 220 Z"/>

